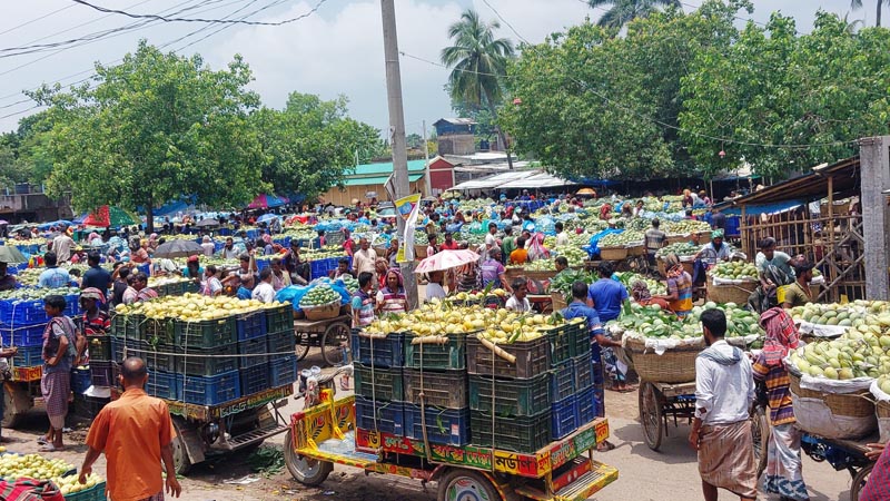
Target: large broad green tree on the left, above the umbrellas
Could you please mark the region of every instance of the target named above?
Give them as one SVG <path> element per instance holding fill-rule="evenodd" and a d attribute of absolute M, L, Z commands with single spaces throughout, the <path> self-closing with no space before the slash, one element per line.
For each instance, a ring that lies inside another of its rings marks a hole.
<path fill-rule="evenodd" d="M 71 191 L 77 210 L 110 204 L 148 213 L 179 196 L 237 207 L 267 189 L 266 158 L 249 112 L 259 106 L 248 66 L 236 56 L 211 70 L 200 56 L 162 53 L 145 41 L 113 67 L 96 66 L 95 86 L 44 87 L 43 137 L 51 195 Z"/>

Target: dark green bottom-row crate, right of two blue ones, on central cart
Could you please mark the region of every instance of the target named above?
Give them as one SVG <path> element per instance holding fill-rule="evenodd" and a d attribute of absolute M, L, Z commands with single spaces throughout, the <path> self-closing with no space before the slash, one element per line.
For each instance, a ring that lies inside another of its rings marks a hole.
<path fill-rule="evenodd" d="M 550 443 L 550 409 L 531 418 L 495 416 L 485 412 L 469 413 L 474 445 L 532 454 Z M 494 432 L 494 433 L 493 433 Z"/>

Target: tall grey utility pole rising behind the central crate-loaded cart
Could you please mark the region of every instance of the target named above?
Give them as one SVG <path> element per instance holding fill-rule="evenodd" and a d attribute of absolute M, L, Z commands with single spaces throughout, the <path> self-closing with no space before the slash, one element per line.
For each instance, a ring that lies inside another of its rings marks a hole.
<path fill-rule="evenodd" d="M 408 183 L 408 153 L 405 148 L 405 110 L 402 106 L 402 71 L 398 65 L 398 36 L 396 33 L 396 8 L 394 0 L 380 0 L 383 18 L 383 49 L 386 61 L 386 95 L 389 104 L 389 146 L 393 148 L 393 177 L 396 197 L 411 195 Z M 424 132 L 426 134 L 426 132 Z M 405 219 L 397 217 L 398 234 L 405 235 Z M 403 242 L 402 245 L 414 245 Z M 417 279 L 414 276 L 414 263 L 402 263 L 402 275 L 405 277 L 405 292 L 411 308 L 416 308 Z"/>

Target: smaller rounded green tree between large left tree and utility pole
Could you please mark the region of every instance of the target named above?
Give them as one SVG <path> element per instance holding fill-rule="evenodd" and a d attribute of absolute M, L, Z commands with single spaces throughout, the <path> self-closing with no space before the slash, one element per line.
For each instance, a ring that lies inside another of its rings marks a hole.
<path fill-rule="evenodd" d="M 379 130 L 347 116 L 346 98 L 324 101 L 293 92 L 283 110 L 264 108 L 251 117 L 268 161 L 263 180 L 283 195 L 317 197 L 343 185 L 355 158 L 383 150 Z"/>

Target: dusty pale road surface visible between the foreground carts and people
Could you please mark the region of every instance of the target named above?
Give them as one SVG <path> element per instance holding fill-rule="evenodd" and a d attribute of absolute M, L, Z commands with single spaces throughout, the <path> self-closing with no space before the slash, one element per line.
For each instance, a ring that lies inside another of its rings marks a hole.
<path fill-rule="evenodd" d="M 310 353 L 300 367 L 319 364 L 320 356 Z M 340 393 L 342 395 L 343 393 Z M 290 400 L 283 415 L 303 407 L 301 401 Z M 597 453 L 595 458 L 619 469 L 619 480 L 606 487 L 593 499 L 599 501 L 674 501 L 702 499 L 695 453 L 686 444 L 689 426 L 685 423 L 676 429 L 671 425 L 661 452 L 652 452 L 643 442 L 642 429 L 637 421 L 636 393 L 617 394 L 606 392 L 606 415 L 611 425 L 613 451 Z M 37 438 L 46 431 L 48 421 L 39 411 L 32 412 L 28 423 L 18 430 L 4 430 L 3 435 L 13 442 L 8 449 L 14 452 L 36 452 Z M 88 423 L 87 423 L 88 424 Z M 86 425 L 66 435 L 68 449 L 60 453 L 46 453 L 59 456 L 79 466 L 86 446 Z M 278 435 L 264 444 L 280 448 L 284 435 Z M 850 475 L 835 472 L 827 463 L 815 463 L 804 458 L 804 480 L 813 501 L 849 501 Z M 105 459 L 93 468 L 105 477 Z M 227 483 L 257 479 L 243 485 Z M 418 481 L 389 475 L 366 477 L 363 471 L 337 465 L 320 488 L 305 488 L 283 470 L 276 474 L 263 475 L 251 471 L 248 454 L 235 453 L 208 463 L 197 465 L 187 478 L 180 479 L 187 501 L 429 501 L 435 500 L 435 483 L 426 491 Z M 720 500 L 734 500 L 736 497 L 721 492 Z M 778 498 L 761 497 L 761 500 Z"/>

